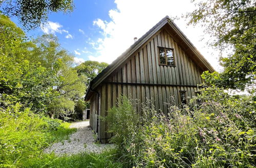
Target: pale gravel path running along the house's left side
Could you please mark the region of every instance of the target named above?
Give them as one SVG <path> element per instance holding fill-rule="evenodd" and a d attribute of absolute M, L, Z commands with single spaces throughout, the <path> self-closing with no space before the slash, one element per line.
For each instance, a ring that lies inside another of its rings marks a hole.
<path fill-rule="evenodd" d="M 77 131 L 70 135 L 69 140 L 53 144 L 45 152 L 54 152 L 56 155 L 71 155 L 81 152 L 99 153 L 113 148 L 113 144 L 95 144 L 95 134 L 89 126 L 89 121 L 72 123 L 70 128 L 77 128 Z"/>

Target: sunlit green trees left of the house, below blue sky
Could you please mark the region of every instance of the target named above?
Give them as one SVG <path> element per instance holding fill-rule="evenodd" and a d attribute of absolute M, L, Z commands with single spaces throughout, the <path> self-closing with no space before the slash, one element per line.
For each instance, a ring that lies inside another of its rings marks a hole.
<path fill-rule="evenodd" d="M 0 105 L 19 103 L 37 114 L 68 119 L 86 90 L 73 55 L 53 35 L 26 40 L 8 17 L 0 16 Z"/>

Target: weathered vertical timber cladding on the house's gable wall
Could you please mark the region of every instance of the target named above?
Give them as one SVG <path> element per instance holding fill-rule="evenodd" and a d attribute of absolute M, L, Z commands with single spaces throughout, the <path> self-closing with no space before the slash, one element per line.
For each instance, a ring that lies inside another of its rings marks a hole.
<path fill-rule="evenodd" d="M 174 49 L 175 66 L 159 65 L 158 47 Z M 194 86 L 202 83 L 201 74 L 201 68 L 162 29 L 102 82 L 101 115 L 106 116 L 108 109 L 120 101 L 118 98 L 122 94 L 138 99 L 140 102 L 145 102 L 146 98 L 150 99 L 156 109 L 166 114 L 167 106 L 164 103 L 173 102 L 170 96 L 175 97 L 175 104 L 178 105 L 180 103 L 179 91 L 186 91 L 187 98 L 195 95 L 197 88 Z M 127 83 L 133 83 L 133 85 Z M 141 85 L 136 85 L 136 83 L 141 83 Z M 150 85 L 143 85 L 143 83 Z M 138 111 L 140 108 L 138 106 Z M 101 130 L 106 127 L 105 123 L 101 123 Z M 110 137 L 108 133 L 101 132 L 101 134 L 101 137 Z"/>

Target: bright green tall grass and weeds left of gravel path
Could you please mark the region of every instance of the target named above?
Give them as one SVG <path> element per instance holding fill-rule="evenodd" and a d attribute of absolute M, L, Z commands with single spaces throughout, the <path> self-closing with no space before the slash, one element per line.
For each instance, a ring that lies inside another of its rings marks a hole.
<path fill-rule="evenodd" d="M 20 104 L 0 109 L 0 166 L 22 166 L 53 142 L 67 139 L 69 123 L 35 115 Z"/>

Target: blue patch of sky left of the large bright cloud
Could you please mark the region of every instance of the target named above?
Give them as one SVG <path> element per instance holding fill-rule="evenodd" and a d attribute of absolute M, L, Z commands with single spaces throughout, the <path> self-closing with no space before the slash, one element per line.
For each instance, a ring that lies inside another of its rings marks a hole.
<path fill-rule="evenodd" d="M 89 54 L 97 54 L 91 45 L 93 40 L 102 37 L 99 33 L 99 27 L 93 25 L 93 21 L 97 18 L 110 21 L 109 11 L 116 8 L 116 4 L 110 0 L 75 0 L 74 3 L 75 9 L 70 14 L 52 13 L 49 15 L 49 22 L 60 26 L 58 28 L 59 31 L 49 30 L 49 33 L 56 35 L 61 46 L 74 53 L 75 57 L 89 60 Z M 12 20 L 18 24 L 15 18 L 12 18 Z M 47 23 L 45 26 L 47 26 Z M 51 28 L 49 27 L 49 29 Z M 66 33 L 67 31 L 68 33 Z M 38 27 L 27 32 L 27 35 L 37 37 L 44 33 Z M 78 54 L 75 54 L 75 51 Z"/>

